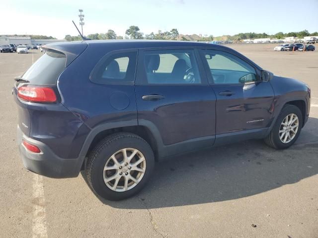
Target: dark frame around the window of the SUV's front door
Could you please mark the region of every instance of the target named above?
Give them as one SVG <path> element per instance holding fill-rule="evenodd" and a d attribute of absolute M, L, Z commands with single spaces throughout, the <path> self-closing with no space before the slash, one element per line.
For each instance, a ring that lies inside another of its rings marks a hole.
<path fill-rule="evenodd" d="M 210 69 L 210 66 L 208 64 L 208 60 L 205 59 L 205 55 L 204 55 L 204 51 L 215 51 L 215 52 L 221 52 L 222 53 L 226 53 L 226 54 L 230 54 L 230 55 L 233 55 L 234 57 L 237 57 L 239 58 L 239 60 L 242 60 L 244 61 L 245 63 L 247 63 L 248 65 L 250 65 L 252 68 L 254 68 L 255 70 L 255 74 L 256 74 L 256 80 L 255 81 L 252 81 L 252 82 L 245 82 L 245 83 L 214 83 L 214 79 L 213 79 L 213 75 L 211 73 L 211 69 Z M 223 86 L 227 86 L 227 85 L 237 85 L 237 86 L 244 86 L 244 85 L 247 85 L 247 84 L 255 84 L 255 83 L 260 83 L 261 82 L 261 78 L 259 76 L 259 73 L 260 73 L 260 70 L 252 63 L 242 59 L 240 56 L 238 55 L 235 55 L 231 52 L 228 52 L 228 51 L 223 51 L 223 50 L 219 50 L 219 49 L 211 49 L 211 48 L 200 48 L 199 49 L 199 54 L 200 54 L 200 58 L 201 60 L 203 61 L 203 65 L 204 65 L 204 68 L 205 68 L 205 72 L 207 74 L 207 78 L 208 78 L 208 82 L 209 82 L 209 85 L 223 85 Z"/>

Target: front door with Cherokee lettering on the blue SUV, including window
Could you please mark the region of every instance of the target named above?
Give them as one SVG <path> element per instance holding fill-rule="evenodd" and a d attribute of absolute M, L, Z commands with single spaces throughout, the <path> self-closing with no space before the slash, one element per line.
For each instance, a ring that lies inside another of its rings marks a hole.
<path fill-rule="evenodd" d="M 273 117 L 274 92 L 255 68 L 228 52 L 202 50 L 216 103 L 216 134 L 265 131 Z"/>

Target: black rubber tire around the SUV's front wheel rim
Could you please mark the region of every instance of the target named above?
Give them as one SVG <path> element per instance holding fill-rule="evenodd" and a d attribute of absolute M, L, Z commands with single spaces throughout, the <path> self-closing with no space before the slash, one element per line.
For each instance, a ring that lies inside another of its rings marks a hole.
<path fill-rule="evenodd" d="M 295 137 L 289 143 L 283 143 L 279 138 L 280 125 L 281 125 L 283 119 L 285 117 L 287 117 L 287 115 L 292 114 L 292 113 L 296 114 L 298 117 L 298 120 L 299 120 L 298 131 L 297 131 Z M 286 104 L 283 107 L 282 111 L 280 112 L 272 130 L 264 138 L 264 141 L 268 146 L 273 147 L 275 149 L 286 149 L 295 143 L 295 141 L 297 140 L 297 138 L 301 132 L 302 126 L 303 126 L 303 116 L 302 116 L 302 112 L 300 111 L 300 109 L 294 105 Z"/>

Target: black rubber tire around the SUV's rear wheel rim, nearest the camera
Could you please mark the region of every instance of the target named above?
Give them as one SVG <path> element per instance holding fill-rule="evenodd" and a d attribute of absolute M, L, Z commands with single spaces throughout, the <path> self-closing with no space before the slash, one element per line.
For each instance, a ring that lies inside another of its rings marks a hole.
<path fill-rule="evenodd" d="M 114 191 L 104 182 L 103 171 L 107 160 L 124 148 L 139 150 L 145 157 L 146 170 L 142 179 L 127 191 Z M 102 140 L 90 153 L 87 160 L 86 176 L 92 190 L 107 200 L 122 200 L 138 193 L 147 183 L 155 166 L 154 153 L 150 145 L 136 134 L 120 132 Z"/>

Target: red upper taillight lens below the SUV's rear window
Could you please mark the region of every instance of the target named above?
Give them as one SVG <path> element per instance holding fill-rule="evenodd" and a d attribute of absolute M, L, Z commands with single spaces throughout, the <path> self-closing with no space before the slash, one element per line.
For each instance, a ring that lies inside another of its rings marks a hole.
<path fill-rule="evenodd" d="M 47 87 L 19 87 L 18 97 L 28 102 L 54 103 L 56 95 L 52 88 Z"/>

